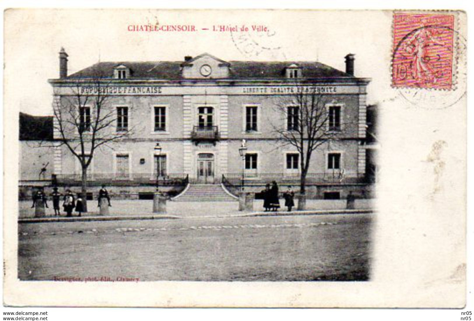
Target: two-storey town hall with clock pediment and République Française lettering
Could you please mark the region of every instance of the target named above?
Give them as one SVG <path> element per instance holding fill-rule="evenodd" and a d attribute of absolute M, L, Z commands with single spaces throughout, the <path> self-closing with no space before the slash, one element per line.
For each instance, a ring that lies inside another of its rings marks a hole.
<path fill-rule="evenodd" d="M 298 185 L 300 155 L 279 132 L 293 130 L 299 110 L 285 99 L 301 91 L 323 96 L 325 126 L 334 138 L 311 156 L 308 192 L 344 198 L 348 191 L 366 190 L 370 81 L 354 76 L 353 54 L 345 59 L 346 70 L 340 71 L 317 61 L 223 61 L 203 53 L 182 61 L 99 62 L 68 75 L 62 49 L 60 77 L 49 83 L 54 102 L 78 92 L 107 96 L 115 113 L 107 130 L 127 135 L 94 152 L 88 180 L 132 194 L 153 191 L 157 180 L 163 186 L 180 179 L 191 185 L 244 183 L 249 191 L 273 180 Z M 92 102 L 77 111 L 85 132 L 96 113 Z M 283 116 L 282 108 L 287 108 Z M 62 136 L 57 117 L 53 121 L 50 174 L 55 184 L 77 184 L 81 167 L 67 147 L 55 143 Z"/>

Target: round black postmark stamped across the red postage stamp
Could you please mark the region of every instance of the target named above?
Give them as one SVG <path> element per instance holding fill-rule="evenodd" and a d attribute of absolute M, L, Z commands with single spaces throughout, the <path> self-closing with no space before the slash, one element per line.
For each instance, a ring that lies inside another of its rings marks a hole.
<path fill-rule="evenodd" d="M 447 26 L 411 30 L 396 43 L 392 87 L 413 106 L 442 109 L 466 94 L 465 38 Z"/>

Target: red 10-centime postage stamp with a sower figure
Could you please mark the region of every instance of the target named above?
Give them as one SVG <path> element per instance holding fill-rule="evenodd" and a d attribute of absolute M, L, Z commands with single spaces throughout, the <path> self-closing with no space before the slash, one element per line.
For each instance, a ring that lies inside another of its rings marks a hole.
<path fill-rule="evenodd" d="M 392 86 L 452 89 L 454 15 L 393 15 Z"/>

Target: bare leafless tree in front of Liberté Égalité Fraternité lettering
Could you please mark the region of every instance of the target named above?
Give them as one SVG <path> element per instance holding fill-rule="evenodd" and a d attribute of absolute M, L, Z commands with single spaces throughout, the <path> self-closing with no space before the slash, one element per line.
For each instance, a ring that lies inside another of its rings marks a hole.
<path fill-rule="evenodd" d="M 275 109 L 279 115 L 272 123 L 281 146 L 294 146 L 299 153 L 300 193 L 306 192 L 306 176 L 313 152 L 337 136 L 340 113 L 330 114 L 328 104 L 332 97 L 318 91 L 314 84 L 296 87 L 296 92 L 277 99 Z"/>

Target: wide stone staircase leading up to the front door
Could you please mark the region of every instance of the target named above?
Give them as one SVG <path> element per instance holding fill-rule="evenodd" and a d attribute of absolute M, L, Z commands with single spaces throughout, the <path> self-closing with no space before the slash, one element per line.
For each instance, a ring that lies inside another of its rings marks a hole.
<path fill-rule="evenodd" d="M 221 185 L 191 184 L 182 194 L 173 199 L 177 202 L 228 202 L 237 201 L 230 196 Z"/>

